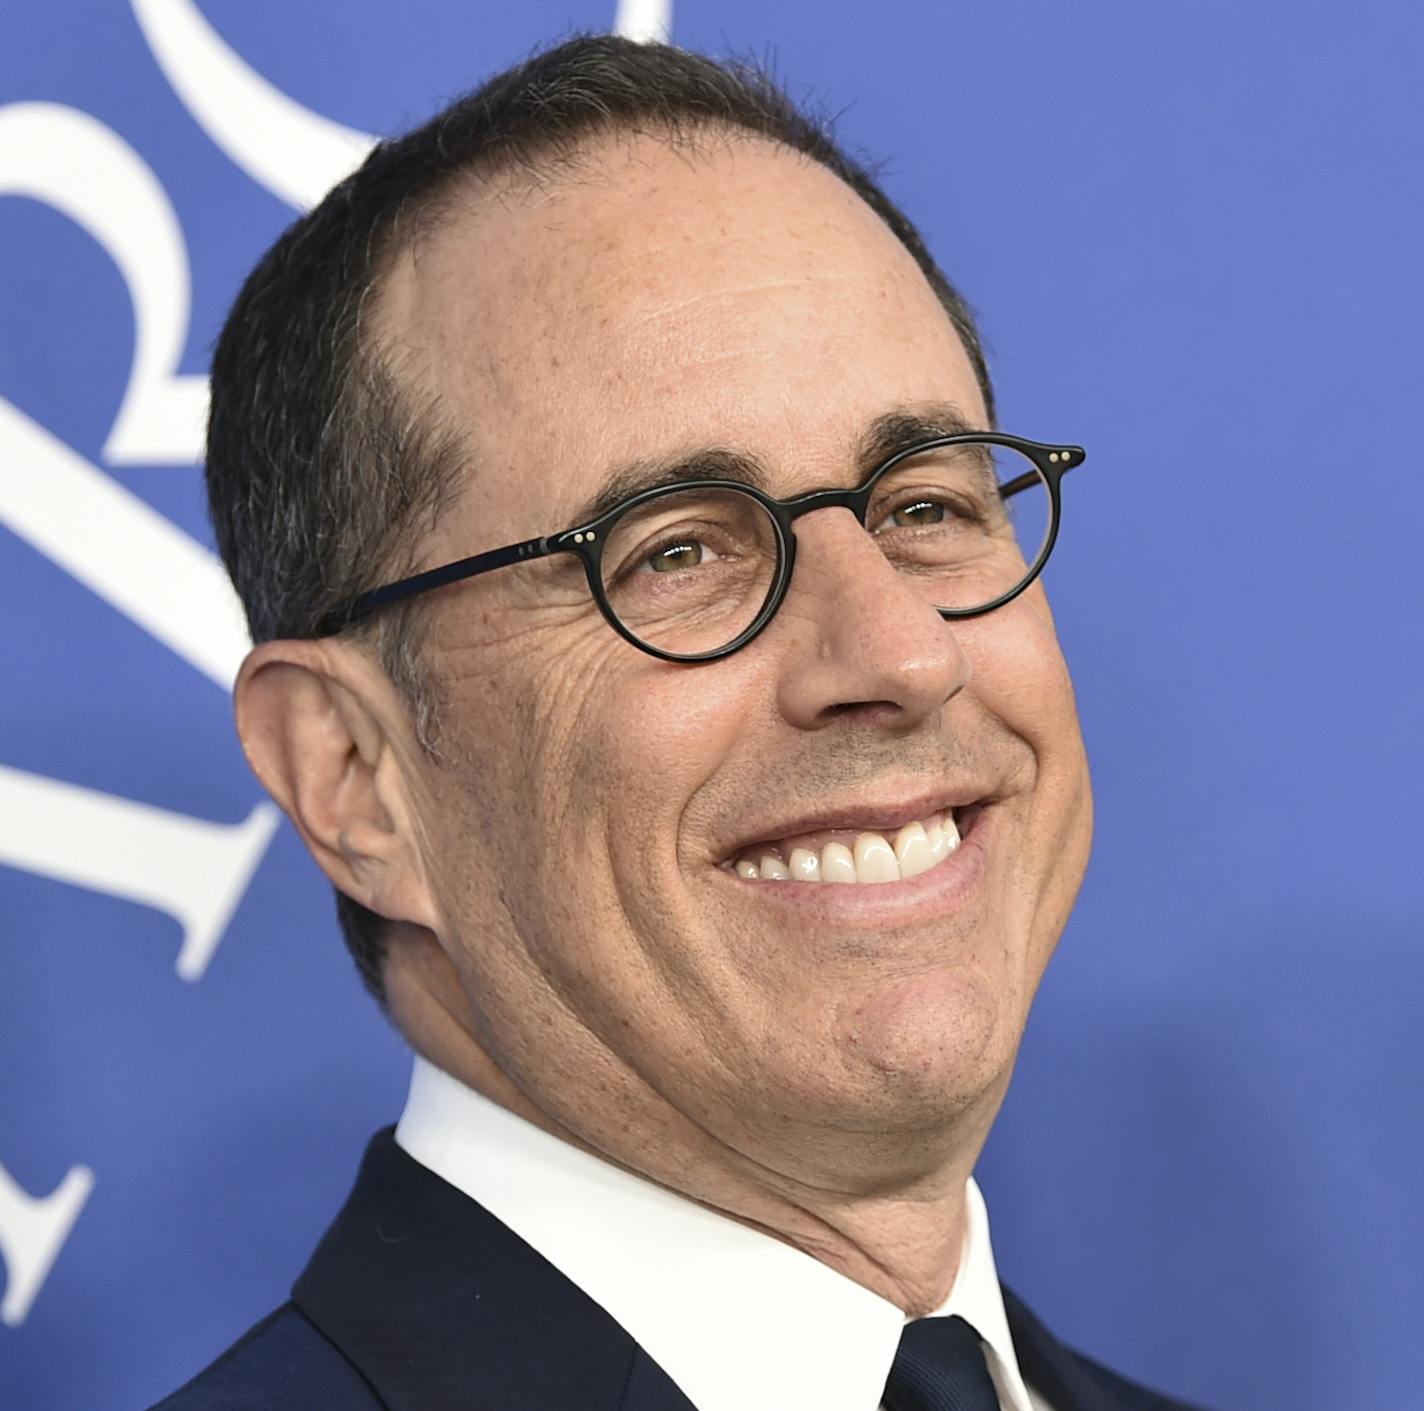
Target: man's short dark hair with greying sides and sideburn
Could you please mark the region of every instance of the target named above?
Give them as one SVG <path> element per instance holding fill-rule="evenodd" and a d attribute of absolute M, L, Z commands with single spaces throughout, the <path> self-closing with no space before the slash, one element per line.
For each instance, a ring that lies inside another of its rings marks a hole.
<path fill-rule="evenodd" d="M 538 175 L 614 132 L 669 140 L 750 134 L 834 172 L 920 266 L 968 355 L 993 417 L 973 315 L 918 231 L 827 122 L 753 64 L 665 44 L 578 37 L 497 74 L 429 122 L 377 144 L 248 276 L 212 360 L 206 484 L 218 548 L 253 642 L 312 638 L 337 607 L 414 571 L 466 468 L 464 439 L 403 386 L 363 327 L 382 276 L 471 177 Z M 349 629 L 370 639 L 437 755 L 439 682 L 419 604 Z M 337 890 L 346 944 L 384 1005 L 387 921 Z"/>

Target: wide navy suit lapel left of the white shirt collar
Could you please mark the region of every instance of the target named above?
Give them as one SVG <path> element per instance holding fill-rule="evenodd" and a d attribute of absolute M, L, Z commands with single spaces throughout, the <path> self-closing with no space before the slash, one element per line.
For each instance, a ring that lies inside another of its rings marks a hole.
<path fill-rule="evenodd" d="M 390 1128 L 292 1299 L 390 1411 L 692 1411 L 619 1324 Z"/>

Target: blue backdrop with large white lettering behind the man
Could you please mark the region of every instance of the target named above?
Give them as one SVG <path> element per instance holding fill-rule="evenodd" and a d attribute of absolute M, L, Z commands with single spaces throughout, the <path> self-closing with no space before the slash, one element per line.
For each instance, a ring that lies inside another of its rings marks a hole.
<path fill-rule="evenodd" d="M 0 1405 L 132 1411 L 283 1296 L 400 1042 L 229 722 L 208 349 L 367 132 L 624 0 L 0 11 Z M 840 111 L 1078 440 L 1099 802 L 980 1169 L 1062 1336 L 1229 1411 L 1420 1404 L 1418 78 L 1394 4 L 678 0 Z"/>

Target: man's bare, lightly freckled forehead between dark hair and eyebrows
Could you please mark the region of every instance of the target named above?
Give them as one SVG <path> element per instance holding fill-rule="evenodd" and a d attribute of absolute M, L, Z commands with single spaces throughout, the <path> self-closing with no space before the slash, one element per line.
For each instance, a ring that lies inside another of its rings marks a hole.
<path fill-rule="evenodd" d="M 984 417 L 904 246 L 759 138 L 621 135 L 471 185 L 397 259 L 377 326 L 468 440 L 481 541 L 550 531 L 637 460 L 716 447 L 826 483 L 896 407 Z"/>

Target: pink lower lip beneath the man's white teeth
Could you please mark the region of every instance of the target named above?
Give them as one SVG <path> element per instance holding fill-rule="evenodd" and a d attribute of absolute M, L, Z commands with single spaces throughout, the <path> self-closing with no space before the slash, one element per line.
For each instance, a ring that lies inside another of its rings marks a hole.
<path fill-rule="evenodd" d="M 933 812 L 933 810 L 931 810 Z M 901 881 L 832 883 L 772 881 L 739 877 L 725 867 L 713 869 L 723 884 L 739 888 L 743 898 L 807 920 L 857 925 L 904 924 L 943 917 L 964 907 L 984 877 L 988 849 L 998 822 L 998 807 L 985 803 L 977 812 L 960 846 L 937 867 Z M 913 822 L 913 820 L 911 820 Z"/>

